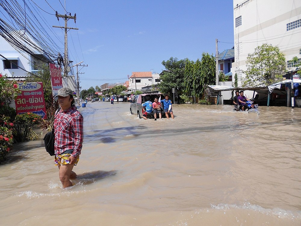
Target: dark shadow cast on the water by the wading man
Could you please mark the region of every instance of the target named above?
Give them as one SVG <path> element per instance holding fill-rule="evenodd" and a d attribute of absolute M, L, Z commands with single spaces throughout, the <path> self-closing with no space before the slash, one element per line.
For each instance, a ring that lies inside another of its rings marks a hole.
<path fill-rule="evenodd" d="M 111 171 L 93 171 L 93 172 L 87 172 L 83 174 L 77 174 L 77 177 L 74 179 L 76 181 L 76 184 L 92 184 L 95 181 L 101 180 L 106 177 L 114 176 L 116 175 L 117 170 L 111 170 Z"/>

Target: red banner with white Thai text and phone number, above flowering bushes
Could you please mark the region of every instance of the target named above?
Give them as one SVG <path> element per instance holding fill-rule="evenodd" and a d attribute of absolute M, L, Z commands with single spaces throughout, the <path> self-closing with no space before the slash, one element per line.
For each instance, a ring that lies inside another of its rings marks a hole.
<path fill-rule="evenodd" d="M 18 94 L 16 103 L 17 114 L 32 112 L 46 119 L 46 107 L 42 82 L 17 83 L 21 93 Z"/>

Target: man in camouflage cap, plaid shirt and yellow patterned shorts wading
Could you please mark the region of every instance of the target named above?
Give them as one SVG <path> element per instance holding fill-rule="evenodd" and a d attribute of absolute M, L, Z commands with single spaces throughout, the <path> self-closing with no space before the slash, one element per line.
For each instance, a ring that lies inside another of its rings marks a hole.
<path fill-rule="evenodd" d="M 70 88 L 58 90 L 58 104 L 61 109 L 54 115 L 54 164 L 59 168 L 63 188 L 72 186 L 70 179 L 76 177 L 72 171 L 79 161 L 83 141 L 83 117 L 74 105 Z"/>

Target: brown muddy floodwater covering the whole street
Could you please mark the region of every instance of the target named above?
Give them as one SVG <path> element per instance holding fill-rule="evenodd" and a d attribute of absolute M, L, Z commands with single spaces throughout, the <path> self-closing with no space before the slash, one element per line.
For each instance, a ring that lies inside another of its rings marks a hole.
<path fill-rule="evenodd" d="M 0 225 L 298 225 L 301 108 L 174 105 L 144 120 L 88 103 L 75 186 L 42 141 L 0 165 Z"/>

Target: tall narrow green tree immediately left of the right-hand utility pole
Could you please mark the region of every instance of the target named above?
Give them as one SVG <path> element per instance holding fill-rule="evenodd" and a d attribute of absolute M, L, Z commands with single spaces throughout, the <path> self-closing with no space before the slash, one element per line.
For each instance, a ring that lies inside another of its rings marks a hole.
<path fill-rule="evenodd" d="M 216 83 L 215 57 L 208 53 L 202 53 L 200 63 L 200 86 L 199 95 L 203 95 L 203 87 L 206 85 L 214 85 Z"/>

